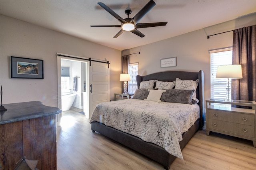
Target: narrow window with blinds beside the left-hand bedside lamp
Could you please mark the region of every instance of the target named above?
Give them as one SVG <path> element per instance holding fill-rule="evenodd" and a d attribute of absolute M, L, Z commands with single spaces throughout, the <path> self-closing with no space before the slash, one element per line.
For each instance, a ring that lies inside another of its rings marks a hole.
<path fill-rule="evenodd" d="M 128 81 L 128 92 L 133 94 L 137 87 L 136 76 L 138 75 L 138 65 L 139 63 L 130 63 L 128 66 L 128 74 L 131 75 L 131 80 Z"/>

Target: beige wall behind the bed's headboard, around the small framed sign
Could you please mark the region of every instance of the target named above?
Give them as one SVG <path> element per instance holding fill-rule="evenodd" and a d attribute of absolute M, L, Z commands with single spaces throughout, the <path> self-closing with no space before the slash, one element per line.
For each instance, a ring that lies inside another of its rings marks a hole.
<path fill-rule="evenodd" d="M 205 76 L 205 99 L 209 99 L 210 54 L 208 53 L 208 50 L 231 47 L 233 42 L 233 32 L 211 36 L 209 39 L 207 39 L 207 36 L 242 28 L 244 26 L 252 26 L 254 24 L 256 24 L 256 14 L 244 16 L 236 20 L 210 26 L 159 42 L 124 50 L 122 51 L 122 55 L 140 51 L 140 54 L 130 55 L 130 63 L 139 62 L 139 75 L 147 75 L 168 70 L 194 72 L 203 70 Z M 161 68 L 160 59 L 168 57 L 177 57 L 177 66 Z"/>

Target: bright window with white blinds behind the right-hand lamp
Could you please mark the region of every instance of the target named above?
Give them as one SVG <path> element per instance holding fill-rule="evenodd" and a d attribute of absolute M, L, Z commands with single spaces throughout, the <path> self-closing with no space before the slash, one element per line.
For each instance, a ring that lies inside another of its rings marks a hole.
<path fill-rule="evenodd" d="M 218 49 L 209 51 L 211 55 L 211 99 L 231 99 L 231 79 L 216 79 L 218 65 L 232 64 L 232 48 Z"/>

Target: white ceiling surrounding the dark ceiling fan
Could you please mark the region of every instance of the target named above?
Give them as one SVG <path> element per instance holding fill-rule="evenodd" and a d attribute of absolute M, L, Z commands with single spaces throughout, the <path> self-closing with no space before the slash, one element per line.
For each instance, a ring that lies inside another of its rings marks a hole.
<path fill-rule="evenodd" d="M 199 30 L 256 12 L 256 0 L 154 0 L 139 23 L 168 22 L 166 26 L 140 28 L 145 37 L 120 28 L 92 28 L 90 25 L 120 25 L 97 4 L 103 2 L 122 18 L 130 7 L 136 15 L 149 0 L 0 0 L 0 13 L 51 30 L 76 36 L 114 49 L 130 49 Z"/>

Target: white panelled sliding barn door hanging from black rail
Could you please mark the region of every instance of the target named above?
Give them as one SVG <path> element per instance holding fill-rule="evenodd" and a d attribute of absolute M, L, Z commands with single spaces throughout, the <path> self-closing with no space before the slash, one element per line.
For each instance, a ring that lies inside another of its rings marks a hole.
<path fill-rule="evenodd" d="M 109 68 L 106 63 L 91 61 L 89 67 L 89 113 L 87 118 L 91 118 L 96 105 L 110 101 L 109 90 Z"/>

